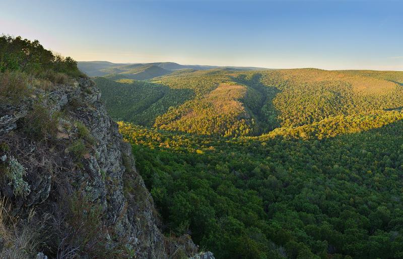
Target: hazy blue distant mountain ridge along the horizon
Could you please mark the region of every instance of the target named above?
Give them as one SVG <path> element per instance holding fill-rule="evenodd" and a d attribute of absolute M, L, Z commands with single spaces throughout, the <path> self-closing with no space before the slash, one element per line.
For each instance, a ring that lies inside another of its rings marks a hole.
<path fill-rule="evenodd" d="M 175 62 L 153 63 L 112 63 L 109 61 L 79 61 L 78 67 L 90 77 L 118 75 L 116 78 L 147 80 L 170 74 L 181 69 L 208 70 L 228 68 L 233 70 L 261 70 L 263 67 L 210 66 L 210 65 L 181 65 Z"/>

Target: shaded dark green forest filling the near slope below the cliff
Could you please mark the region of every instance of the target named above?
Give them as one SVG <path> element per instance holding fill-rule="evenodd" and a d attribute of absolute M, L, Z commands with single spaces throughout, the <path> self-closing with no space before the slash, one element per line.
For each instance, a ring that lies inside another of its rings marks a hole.
<path fill-rule="evenodd" d="M 217 258 L 402 258 L 403 124 L 218 139 L 119 123 L 170 233 Z"/>

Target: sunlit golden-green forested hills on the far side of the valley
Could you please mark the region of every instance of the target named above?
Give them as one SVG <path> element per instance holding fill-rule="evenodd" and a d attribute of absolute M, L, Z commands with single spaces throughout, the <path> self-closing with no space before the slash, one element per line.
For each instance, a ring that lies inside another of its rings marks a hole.
<path fill-rule="evenodd" d="M 198 135 L 253 136 L 403 107 L 396 71 L 217 68 L 95 81 L 116 120 Z"/>

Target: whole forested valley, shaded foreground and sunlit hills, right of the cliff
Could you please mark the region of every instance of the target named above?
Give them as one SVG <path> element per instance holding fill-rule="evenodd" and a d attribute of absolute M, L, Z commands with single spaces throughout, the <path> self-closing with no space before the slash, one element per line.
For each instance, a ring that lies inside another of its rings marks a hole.
<path fill-rule="evenodd" d="M 105 77 L 94 80 L 166 231 L 217 258 L 403 256 L 403 72 Z"/>

